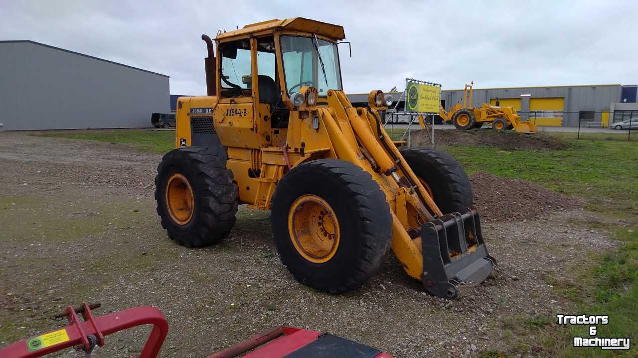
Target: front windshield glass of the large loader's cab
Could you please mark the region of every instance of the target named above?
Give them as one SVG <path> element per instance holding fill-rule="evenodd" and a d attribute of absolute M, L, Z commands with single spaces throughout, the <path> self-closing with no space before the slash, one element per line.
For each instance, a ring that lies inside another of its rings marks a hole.
<path fill-rule="evenodd" d="M 329 89 L 342 89 L 336 43 L 323 39 L 315 42 L 314 37 L 281 36 L 281 58 L 288 94 L 299 92 L 303 86 L 316 87 L 319 96 L 326 96 Z"/>

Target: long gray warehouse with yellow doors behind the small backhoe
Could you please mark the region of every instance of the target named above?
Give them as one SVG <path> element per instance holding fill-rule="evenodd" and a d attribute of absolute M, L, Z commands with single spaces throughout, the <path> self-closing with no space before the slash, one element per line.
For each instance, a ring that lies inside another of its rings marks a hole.
<path fill-rule="evenodd" d="M 574 85 L 474 89 L 472 106 L 483 103 L 513 106 L 523 120 L 537 125 L 577 127 L 600 124 L 613 127 L 616 122 L 638 118 L 637 85 Z M 401 92 L 392 93 L 395 101 Z M 441 106 L 463 105 L 463 89 L 442 90 Z M 367 103 L 367 94 L 348 95 L 353 103 Z M 396 102 L 393 106 L 397 104 Z M 397 110 L 403 110 L 401 99 Z M 470 106 L 470 104 L 468 104 Z M 440 120 L 440 117 L 438 118 Z"/>

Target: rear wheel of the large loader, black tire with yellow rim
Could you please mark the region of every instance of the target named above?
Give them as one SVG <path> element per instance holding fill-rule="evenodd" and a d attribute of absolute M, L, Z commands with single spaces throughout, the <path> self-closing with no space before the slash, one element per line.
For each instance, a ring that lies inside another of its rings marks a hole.
<path fill-rule="evenodd" d="M 235 225 L 239 194 L 221 155 L 198 147 L 171 150 L 159 163 L 155 186 L 161 226 L 179 245 L 218 243 Z M 182 201 L 190 203 L 175 208 L 181 192 L 187 194 Z"/>

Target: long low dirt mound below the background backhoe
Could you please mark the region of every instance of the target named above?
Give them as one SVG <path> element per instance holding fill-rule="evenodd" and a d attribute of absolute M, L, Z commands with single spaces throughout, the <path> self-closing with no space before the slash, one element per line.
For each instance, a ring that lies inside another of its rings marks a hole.
<path fill-rule="evenodd" d="M 411 136 L 413 146 L 430 146 L 431 139 L 426 131 L 413 131 Z M 491 129 L 472 129 L 470 131 L 457 131 L 456 129 L 434 130 L 434 146 L 444 147 L 446 145 L 495 147 L 502 150 L 557 150 L 565 147 L 565 144 L 558 138 L 543 133 L 495 132 Z"/>

